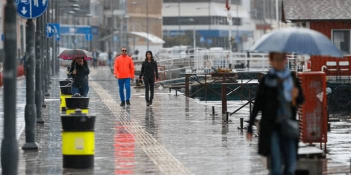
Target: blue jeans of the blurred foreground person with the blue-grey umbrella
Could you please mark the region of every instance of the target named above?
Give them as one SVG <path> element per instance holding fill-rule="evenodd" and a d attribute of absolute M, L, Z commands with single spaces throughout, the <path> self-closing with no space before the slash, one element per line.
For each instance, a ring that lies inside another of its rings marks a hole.
<path fill-rule="evenodd" d="M 282 163 L 284 163 L 284 174 L 281 171 Z M 295 168 L 295 140 L 273 131 L 270 140 L 270 175 L 294 175 Z"/>

